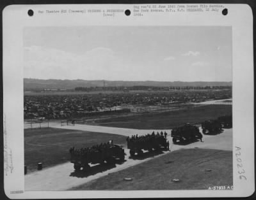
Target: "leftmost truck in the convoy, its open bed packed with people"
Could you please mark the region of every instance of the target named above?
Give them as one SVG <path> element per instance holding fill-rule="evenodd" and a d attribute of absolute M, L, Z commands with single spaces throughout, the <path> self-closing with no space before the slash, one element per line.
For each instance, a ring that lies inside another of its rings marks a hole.
<path fill-rule="evenodd" d="M 105 161 L 107 164 L 113 164 L 116 159 L 125 160 L 124 148 L 111 142 L 101 143 L 90 148 L 70 148 L 70 162 L 74 163 L 76 171 L 81 168 L 87 171 L 90 169 L 90 164 L 104 164 Z"/>

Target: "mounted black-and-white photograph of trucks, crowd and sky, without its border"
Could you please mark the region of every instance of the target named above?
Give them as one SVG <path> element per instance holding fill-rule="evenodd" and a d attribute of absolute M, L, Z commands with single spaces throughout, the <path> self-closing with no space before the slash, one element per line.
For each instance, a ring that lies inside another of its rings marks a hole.
<path fill-rule="evenodd" d="M 25 190 L 231 190 L 231 34 L 24 29 Z"/>

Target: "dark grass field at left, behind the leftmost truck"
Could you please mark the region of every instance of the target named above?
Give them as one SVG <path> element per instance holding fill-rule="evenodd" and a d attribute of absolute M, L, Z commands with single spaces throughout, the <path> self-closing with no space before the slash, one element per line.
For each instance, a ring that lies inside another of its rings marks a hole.
<path fill-rule="evenodd" d="M 25 165 L 28 173 L 35 171 L 37 163 L 44 168 L 68 162 L 69 148 L 92 146 L 113 139 L 117 144 L 124 144 L 125 137 L 101 132 L 87 132 L 67 129 L 24 129 Z"/>

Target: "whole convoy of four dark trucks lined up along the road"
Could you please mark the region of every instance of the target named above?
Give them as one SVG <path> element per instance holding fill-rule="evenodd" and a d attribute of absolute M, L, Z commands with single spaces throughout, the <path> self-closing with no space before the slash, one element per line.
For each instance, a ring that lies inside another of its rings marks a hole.
<path fill-rule="evenodd" d="M 224 115 L 216 120 L 206 120 L 202 122 L 202 132 L 204 134 L 214 134 L 221 129 L 232 127 L 232 115 Z M 162 132 L 161 132 L 162 133 Z M 164 132 L 165 133 L 165 132 Z M 130 150 L 131 157 L 142 156 L 143 151 L 159 152 L 169 150 L 169 141 L 166 138 L 167 134 L 146 134 L 145 136 L 134 135 L 127 137 L 127 148 Z M 172 140 L 174 144 L 202 141 L 203 135 L 196 125 L 189 123 L 172 129 Z M 116 159 L 125 162 L 125 151 L 122 145 L 113 144 L 113 141 L 108 143 L 92 146 L 91 148 L 76 149 L 70 148 L 70 162 L 74 163 L 74 169 L 79 171 L 90 170 L 90 164 L 113 164 Z"/>

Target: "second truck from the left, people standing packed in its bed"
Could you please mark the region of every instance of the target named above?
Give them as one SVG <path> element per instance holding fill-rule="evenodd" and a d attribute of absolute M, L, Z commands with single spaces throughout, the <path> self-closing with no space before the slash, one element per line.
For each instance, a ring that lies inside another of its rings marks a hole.
<path fill-rule="evenodd" d="M 159 151 L 168 147 L 167 139 L 160 134 L 147 134 L 145 136 L 132 136 L 127 138 L 127 148 L 130 150 L 130 155 L 143 155 L 143 150 L 152 152 Z"/>

